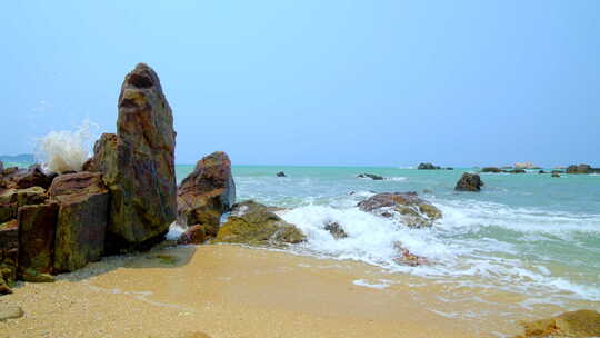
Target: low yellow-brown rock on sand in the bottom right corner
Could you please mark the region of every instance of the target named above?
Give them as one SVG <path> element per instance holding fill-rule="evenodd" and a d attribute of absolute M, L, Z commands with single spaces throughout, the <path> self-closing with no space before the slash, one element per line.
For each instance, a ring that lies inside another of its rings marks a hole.
<path fill-rule="evenodd" d="M 524 322 L 523 327 L 524 335 L 517 337 L 600 337 L 600 314 L 592 310 L 570 311 Z"/>

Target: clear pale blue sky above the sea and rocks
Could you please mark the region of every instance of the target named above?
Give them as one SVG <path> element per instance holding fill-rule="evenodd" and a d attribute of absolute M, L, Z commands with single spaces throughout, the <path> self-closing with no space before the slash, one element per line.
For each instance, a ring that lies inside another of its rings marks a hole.
<path fill-rule="evenodd" d="M 89 119 L 136 63 L 177 163 L 600 167 L 600 1 L 6 1 L 0 153 Z"/>

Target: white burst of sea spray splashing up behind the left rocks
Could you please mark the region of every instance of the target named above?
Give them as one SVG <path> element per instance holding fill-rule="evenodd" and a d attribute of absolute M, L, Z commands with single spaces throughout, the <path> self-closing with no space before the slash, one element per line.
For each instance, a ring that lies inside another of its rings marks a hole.
<path fill-rule="evenodd" d="M 37 157 L 47 172 L 81 170 L 90 157 L 92 141 L 97 138 L 99 126 L 84 120 L 74 131 L 50 131 L 37 140 Z"/>

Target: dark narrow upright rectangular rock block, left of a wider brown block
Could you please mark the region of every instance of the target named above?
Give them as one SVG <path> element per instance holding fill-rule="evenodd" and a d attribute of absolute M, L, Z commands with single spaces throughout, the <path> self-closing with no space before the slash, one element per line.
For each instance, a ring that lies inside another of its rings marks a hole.
<path fill-rule="evenodd" d="M 21 277 L 52 271 L 58 210 L 56 202 L 19 208 L 18 272 Z"/>

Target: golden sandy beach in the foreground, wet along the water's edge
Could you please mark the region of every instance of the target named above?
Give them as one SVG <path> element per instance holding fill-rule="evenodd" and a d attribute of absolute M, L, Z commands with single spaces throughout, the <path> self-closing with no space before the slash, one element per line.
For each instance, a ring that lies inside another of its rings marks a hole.
<path fill-rule="evenodd" d="M 190 246 L 21 284 L 0 306 L 26 315 L 0 322 L 0 337 L 501 337 L 562 310 L 528 311 L 523 299 L 360 262 Z"/>

